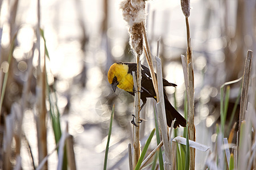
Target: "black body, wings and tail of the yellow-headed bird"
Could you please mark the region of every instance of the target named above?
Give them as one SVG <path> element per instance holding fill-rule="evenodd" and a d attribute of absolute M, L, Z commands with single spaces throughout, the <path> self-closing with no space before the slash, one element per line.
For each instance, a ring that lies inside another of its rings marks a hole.
<path fill-rule="evenodd" d="M 125 63 L 125 62 L 117 62 L 120 64 L 125 64 L 129 66 L 129 70 L 128 73 L 129 74 L 133 74 L 132 72 L 137 70 L 137 63 Z M 154 90 L 154 86 L 152 83 L 152 79 L 151 79 L 151 75 L 150 75 L 150 70 L 144 66 L 141 65 L 142 67 L 142 71 L 141 71 L 141 100 L 143 101 L 142 107 L 143 105 L 146 103 L 147 101 L 147 97 L 152 97 L 156 100 L 156 94 L 155 94 L 155 90 Z M 177 86 L 174 83 L 169 83 L 166 79 L 163 78 L 163 86 Z M 134 92 L 129 92 L 131 95 L 134 96 Z M 185 127 L 187 124 L 187 121 L 185 120 L 185 118 L 183 116 L 180 115 L 179 112 L 176 111 L 176 109 L 174 107 L 172 107 L 170 101 L 168 100 L 166 91 L 163 90 L 164 93 L 164 105 L 165 105 L 165 109 L 166 109 L 166 119 L 167 119 L 167 125 L 170 127 L 172 120 L 174 120 L 176 118 L 176 122 L 174 124 L 174 128 L 179 127 L 179 125 Z"/>

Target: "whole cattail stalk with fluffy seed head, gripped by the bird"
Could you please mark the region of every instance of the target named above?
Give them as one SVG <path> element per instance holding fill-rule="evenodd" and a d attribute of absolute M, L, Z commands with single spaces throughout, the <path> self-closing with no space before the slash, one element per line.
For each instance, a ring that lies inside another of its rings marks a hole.
<path fill-rule="evenodd" d="M 127 22 L 130 35 L 130 46 L 136 54 L 137 76 L 133 73 L 134 88 L 137 90 L 134 95 L 134 126 L 133 127 L 133 168 L 136 167 L 141 154 L 141 143 L 139 142 L 139 111 L 141 110 L 141 61 L 140 56 L 143 52 L 142 24 L 146 18 L 145 2 L 143 0 L 124 0 L 120 3 L 123 11 L 123 19 Z"/>

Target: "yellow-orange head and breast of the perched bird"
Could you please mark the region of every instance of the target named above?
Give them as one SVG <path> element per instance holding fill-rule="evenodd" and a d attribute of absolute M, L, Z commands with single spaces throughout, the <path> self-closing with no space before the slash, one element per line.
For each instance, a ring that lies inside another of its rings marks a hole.
<path fill-rule="evenodd" d="M 113 63 L 109 68 L 108 80 L 114 92 L 117 87 L 133 92 L 133 75 L 128 73 L 129 66 L 125 63 Z"/>

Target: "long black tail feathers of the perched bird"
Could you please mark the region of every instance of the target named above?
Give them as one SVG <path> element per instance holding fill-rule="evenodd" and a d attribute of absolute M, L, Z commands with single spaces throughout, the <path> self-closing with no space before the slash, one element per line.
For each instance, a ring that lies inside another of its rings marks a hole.
<path fill-rule="evenodd" d="M 166 94 L 164 94 L 164 105 L 166 107 L 166 120 L 167 125 L 171 127 L 172 121 L 176 118 L 174 123 L 174 128 L 180 127 L 179 125 L 185 127 L 187 125 L 187 121 L 176 109 L 171 105 L 170 101 Z"/>

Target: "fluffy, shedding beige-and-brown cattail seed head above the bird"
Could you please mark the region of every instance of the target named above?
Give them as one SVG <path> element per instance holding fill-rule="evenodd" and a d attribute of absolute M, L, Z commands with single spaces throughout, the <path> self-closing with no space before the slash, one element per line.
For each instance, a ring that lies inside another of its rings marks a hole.
<path fill-rule="evenodd" d="M 145 2 L 143 0 L 124 0 L 120 3 L 123 19 L 127 22 L 130 33 L 130 46 L 141 56 L 143 52 L 142 22 L 146 18 Z"/>

